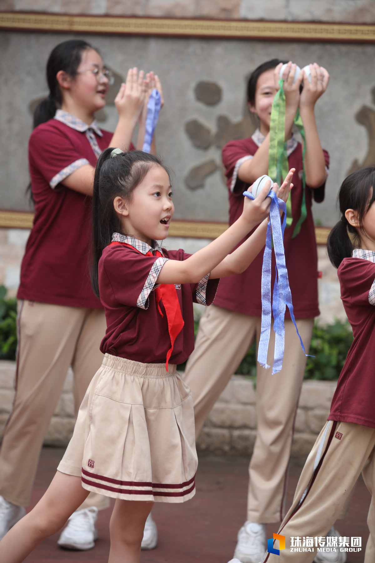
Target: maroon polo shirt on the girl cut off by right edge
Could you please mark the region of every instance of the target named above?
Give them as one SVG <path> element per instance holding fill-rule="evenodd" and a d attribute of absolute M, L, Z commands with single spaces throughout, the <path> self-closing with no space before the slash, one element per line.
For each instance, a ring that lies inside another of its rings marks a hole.
<path fill-rule="evenodd" d="M 354 340 L 338 378 L 328 420 L 375 428 L 375 307 L 369 303 L 375 263 L 363 258 L 344 258 L 337 274 Z"/>

